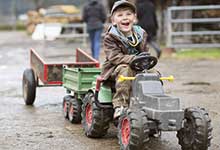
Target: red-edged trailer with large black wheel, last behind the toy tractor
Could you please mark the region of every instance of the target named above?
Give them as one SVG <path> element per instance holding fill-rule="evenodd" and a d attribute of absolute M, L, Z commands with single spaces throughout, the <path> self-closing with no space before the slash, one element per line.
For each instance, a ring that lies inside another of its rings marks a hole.
<path fill-rule="evenodd" d="M 61 56 L 61 60 L 67 61 L 68 55 Z M 32 105 L 36 97 L 37 87 L 61 86 L 63 65 L 68 67 L 99 67 L 99 62 L 85 53 L 76 49 L 76 61 L 71 58 L 67 62 L 59 62 L 59 58 L 44 52 L 30 49 L 30 66 L 23 73 L 22 89 L 26 105 Z"/>

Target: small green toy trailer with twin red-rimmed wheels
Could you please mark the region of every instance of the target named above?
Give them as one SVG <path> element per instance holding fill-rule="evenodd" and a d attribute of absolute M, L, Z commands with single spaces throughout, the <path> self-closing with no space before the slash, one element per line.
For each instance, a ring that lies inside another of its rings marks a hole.
<path fill-rule="evenodd" d="M 63 112 L 64 117 L 71 123 L 81 122 L 83 99 L 95 84 L 96 76 L 101 72 L 101 69 L 96 67 L 63 67 L 63 87 L 68 93 L 63 98 Z"/>

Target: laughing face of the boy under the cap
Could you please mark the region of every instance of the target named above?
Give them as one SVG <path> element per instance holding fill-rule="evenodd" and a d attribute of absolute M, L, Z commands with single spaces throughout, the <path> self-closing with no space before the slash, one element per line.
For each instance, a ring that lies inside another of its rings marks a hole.
<path fill-rule="evenodd" d="M 128 7 L 118 8 L 112 16 L 112 24 L 117 25 L 124 35 L 132 33 L 132 27 L 136 21 L 136 14 Z"/>

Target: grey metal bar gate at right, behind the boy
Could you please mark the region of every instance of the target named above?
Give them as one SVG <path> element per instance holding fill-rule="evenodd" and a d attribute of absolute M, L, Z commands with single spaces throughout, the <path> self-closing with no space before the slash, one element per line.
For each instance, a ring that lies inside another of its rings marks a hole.
<path fill-rule="evenodd" d="M 175 6 L 167 13 L 167 47 L 220 47 L 220 5 Z"/>

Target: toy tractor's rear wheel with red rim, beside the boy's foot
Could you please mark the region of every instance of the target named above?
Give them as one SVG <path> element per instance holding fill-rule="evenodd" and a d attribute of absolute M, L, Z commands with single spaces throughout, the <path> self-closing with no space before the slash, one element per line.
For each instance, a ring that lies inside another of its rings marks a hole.
<path fill-rule="evenodd" d="M 112 110 L 97 107 L 94 94 L 87 93 L 82 104 L 82 126 L 85 135 L 91 138 L 99 138 L 106 135 L 111 120 Z"/>

